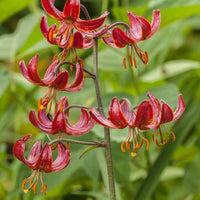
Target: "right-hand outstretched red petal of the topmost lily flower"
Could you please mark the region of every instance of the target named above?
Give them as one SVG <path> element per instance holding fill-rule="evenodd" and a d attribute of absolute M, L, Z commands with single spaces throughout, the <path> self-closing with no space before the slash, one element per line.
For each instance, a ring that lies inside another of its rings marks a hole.
<path fill-rule="evenodd" d="M 109 14 L 108 11 L 104 12 L 103 15 L 101 15 L 97 19 L 91 19 L 91 20 L 82 20 L 78 19 L 74 22 L 74 27 L 78 30 L 82 31 L 94 31 L 98 29 L 105 21 L 107 15 Z"/>

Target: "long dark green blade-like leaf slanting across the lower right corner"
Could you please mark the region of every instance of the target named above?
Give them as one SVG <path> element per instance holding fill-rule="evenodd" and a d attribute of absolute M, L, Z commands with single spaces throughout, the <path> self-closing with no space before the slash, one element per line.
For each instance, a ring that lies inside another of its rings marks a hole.
<path fill-rule="evenodd" d="M 176 134 L 176 141 L 166 144 L 151 169 L 149 170 L 148 176 L 141 184 L 135 199 L 137 200 L 148 200 L 151 197 L 151 194 L 155 190 L 156 186 L 159 183 L 159 177 L 168 165 L 170 159 L 172 158 L 173 153 L 179 147 L 181 142 L 185 139 L 194 124 L 199 119 L 200 107 L 191 106 L 189 112 L 184 114 L 183 120 L 175 127 L 174 132 Z M 193 116 L 196 116 L 195 118 Z"/>

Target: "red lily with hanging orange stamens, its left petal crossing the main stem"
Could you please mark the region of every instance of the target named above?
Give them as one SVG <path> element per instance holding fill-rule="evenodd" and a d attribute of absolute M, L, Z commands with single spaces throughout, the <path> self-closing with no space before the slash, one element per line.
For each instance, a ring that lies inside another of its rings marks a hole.
<path fill-rule="evenodd" d="M 126 148 L 130 151 L 130 139 L 131 132 L 133 135 L 133 152 L 132 156 L 136 156 L 136 149 L 141 148 L 144 141 L 146 141 L 149 147 L 149 142 L 144 138 L 140 130 L 145 130 L 146 125 L 150 124 L 153 120 L 153 108 L 149 101 L 143 101 L 134 111 L 131 104 L 127 100 L 118 101 L 117 98 L 113 98 L 109 106 L 109 119 L 105 119 L 101 116 L 95 108 L 90 110 L 91 117 L 99 124 L 107 128 L 123 129 L 129 126 L 129 133 L 125 140 L 122 142 L 121 149 L 125 152 L 123 145 L 126 143 Z"/>

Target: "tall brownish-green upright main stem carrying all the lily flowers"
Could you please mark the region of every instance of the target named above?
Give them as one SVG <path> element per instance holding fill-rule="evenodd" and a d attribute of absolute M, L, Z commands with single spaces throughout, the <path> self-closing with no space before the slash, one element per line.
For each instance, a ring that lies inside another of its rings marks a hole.
<path fill-rule="evenodd" d="M 101 98 L 101 92 L 98 81 L 98 38 L 94 38 L 94 46 L 93 46 L 93 59 L 94 59 L 94 84 L 95 91 L 98 103 L 98 109 L 102 116 L 105 117 L 103 103 Z M 104 128 L 104 144 L 105 144 L 105 154 L 106 154 L 106 162 L 107 162 L 107 172 L 108 172 L 108 183 L 109 183 L 109 192 L 110 192 L 110 200 L 116 200 L 115 195 L 115 181 L 114 181 L 114 173 L 113 173 L 113 163 L 112 163 L 112 153 L 111 153 L 111 144 L 110 144 L 110 129 Z"/>

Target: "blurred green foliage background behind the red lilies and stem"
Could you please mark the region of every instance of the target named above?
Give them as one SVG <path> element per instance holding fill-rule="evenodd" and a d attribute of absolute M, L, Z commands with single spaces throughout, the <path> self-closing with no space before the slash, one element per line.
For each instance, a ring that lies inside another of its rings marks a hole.
<path fill-rule="evenodd" d="M 133 105 L 152 92 L 173 109 L 182 93 L 186 110 L 176 122 L 167 125 L 176 135 L 175 142 L 159 148 L 150 142 L 138 151 L 137 157 L 122 153 L 120 143 L 128 130 L 111 130 L 117 200 L 199 200 L 200 199 L 200 1 L 199 0 L 82 0 L 92 18 L 110 11 L 106 21 L 127 21 L 126 10 L 151 21 L 153 9 L 161 11 L 161 27 L 147 41 L 138 45 L 149 53 L 149 64 L 138 69 L 124 69 L 126 49 L 112 49 L 99 42 L 99 79 L 107 113 L 114 96 L 127 97 Z M 65 0 L 56 0 L 62 10 Z M 102 149 L 94 149 L 79 159 L 85 147 L 70 145 L 70 165 L 56 173 L 45 175 L 47 195 L 33 191 L 24 194 L 22 181 L 31 170 L 13 157 L 16 140 L 32 134 L 27 149 L 36 140 L 46 140 L 44 133 L 29 122 L 30 109 L 46 89 L 30 84 L 19 72 L 19 61 L 26 64 L 39 54 L 42 74 L 60 49 L 47 43 L 39 24 L 45 12 L 38 0 L 0 0 L 0 199 L 10 200 L 107 200 L 106 161 Z M 84 16 L 81 14 L 81 18 Z M 49 25 L 55 21 L 48 17 Z M 78 51 L 85 68 L 92 71 L 92 48 Z M 62 93 L 71 104 L 95 104 L 92 80 L 86 80 L 79 93 Z M 77 95 L 79 98 L 77 98 Z M 79 117 L 74 112 L 72 121 Z M 151 141 L 151 132 L 144 133 Z M 74 139 L 74 138 L 73 138 Z M 103 129 L 95 129 L 75 139 L 102 141 Z"/>

